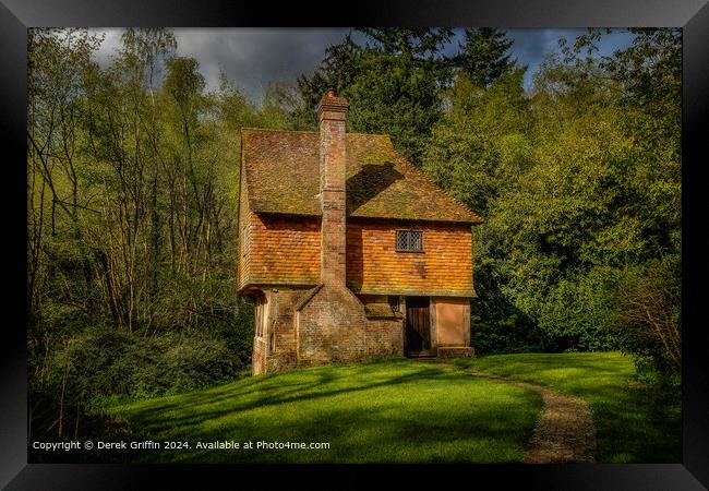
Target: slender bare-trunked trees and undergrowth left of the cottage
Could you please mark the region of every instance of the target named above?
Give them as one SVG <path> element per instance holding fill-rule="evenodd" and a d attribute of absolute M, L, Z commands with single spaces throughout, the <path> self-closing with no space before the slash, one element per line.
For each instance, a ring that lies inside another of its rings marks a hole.
<path fill-rule="evenodd" d="M 169 29 L 127 29 L 105 69 L 99 44 L 29 34 L 29 395 L 33 428 L 60 436 L 89 402 L 204 386 L 250 362 L 238 139 L 289 124 L 281 98 L 257 108 L 226 81 L 206 92 Z"/>

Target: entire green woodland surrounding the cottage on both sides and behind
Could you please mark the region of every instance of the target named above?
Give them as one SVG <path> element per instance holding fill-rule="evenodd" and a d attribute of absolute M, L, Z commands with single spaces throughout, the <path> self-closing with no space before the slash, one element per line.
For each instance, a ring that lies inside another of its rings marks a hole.
<path fill-rule="evenodd" d="M 31 29 L 27 106 L 29 439 L 76 438 L 107 402 L 243 376 L 252 311 L 236 296 L 239 136 L 315 130 L 328 87 L 348 131 L 389 133 L 485 218 L 473 227 L 478 354 L 623 350 L 680 383 L 680 29 L 560 43 L 522 86 L 512 40 L 359 29 L 319 69 L 250 101 L 169 29 L 100 38 Z"/>

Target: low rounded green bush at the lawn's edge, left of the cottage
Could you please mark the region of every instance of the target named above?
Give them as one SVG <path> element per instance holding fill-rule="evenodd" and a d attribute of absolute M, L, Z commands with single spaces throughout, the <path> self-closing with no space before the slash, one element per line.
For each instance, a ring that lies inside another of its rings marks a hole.
<path fill-rule="evenodd" d="M 144 398 L 213 385 L 241 368 L 223 339 L 202 333 L 143 337 L 87 330 L 51 359 L 49 384 L 92 405 L 106 397 Z"/>

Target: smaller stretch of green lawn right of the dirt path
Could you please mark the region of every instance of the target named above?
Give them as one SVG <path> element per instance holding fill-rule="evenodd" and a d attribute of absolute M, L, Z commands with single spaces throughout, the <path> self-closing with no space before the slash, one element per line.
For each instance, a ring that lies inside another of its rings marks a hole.
<path fill-rule="evenodd" d="M 633 381 L 617 352 L 500 355 L 456 364 L 578 395 L 591 405 L 601 463 L 682 462 L 681 396 Z"/>

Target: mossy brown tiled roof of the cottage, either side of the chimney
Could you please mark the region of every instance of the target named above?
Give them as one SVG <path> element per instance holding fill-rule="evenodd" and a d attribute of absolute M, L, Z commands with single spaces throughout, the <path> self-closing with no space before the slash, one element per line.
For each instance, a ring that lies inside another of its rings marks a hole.
<path fill-rule="evenodd" d="M 241 145 L 252 212 L 321 215 L 317 132 L 244 129 Z M 388 135 L 361 133 L 347 133 L 347 215 L 482 221 L 400 156 Z"/>

